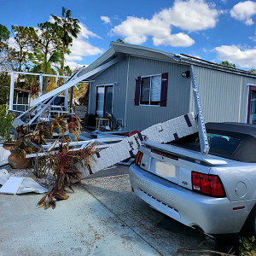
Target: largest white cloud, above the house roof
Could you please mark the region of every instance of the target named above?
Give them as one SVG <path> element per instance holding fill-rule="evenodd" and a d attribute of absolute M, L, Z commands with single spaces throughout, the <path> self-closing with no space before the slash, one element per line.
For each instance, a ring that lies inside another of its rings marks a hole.
<path fill-rule="evenodd" d="M 161 10 L 150 20 L 128 16 L 109 34 L 122 36 L 129 44 L 143 44 L 152 37 L 154 45 L 187 47 L 195 41 L 183 32 L 172 34 L 172 26 L 188 32 L 206 30 L 216 26 L 221 13 L 204 0 L 176 0 L 172 8 Z"/>

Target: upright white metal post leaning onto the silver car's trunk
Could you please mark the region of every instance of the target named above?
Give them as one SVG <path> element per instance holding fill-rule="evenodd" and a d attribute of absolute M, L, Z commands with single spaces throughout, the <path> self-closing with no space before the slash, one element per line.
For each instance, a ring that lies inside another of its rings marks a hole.
<path fill-rule="evenodd" d="M 200 102 L 200 97 L 198 93 L 193 65 L 191 65 L 191 80 L 192 80 L 193 94 L 194 94 L 194 100 L 195 100 L 195 111 L 197 115 L 197 125 L 198 125 L 201 154 L 207 155 L 209 153 L 207 129 L 203 119 L 203 114 L 201 112 L 201 102 Z"/>

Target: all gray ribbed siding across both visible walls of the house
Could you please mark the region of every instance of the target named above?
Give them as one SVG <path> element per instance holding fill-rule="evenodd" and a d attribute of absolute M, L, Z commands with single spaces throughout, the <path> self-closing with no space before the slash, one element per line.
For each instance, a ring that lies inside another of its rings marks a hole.
<path fill-rule="evenodd" d="M 245 75 L 194 65 L 205 122 L 246 122 L 247 84 L 256 79 Z M 113 85 L 113 116 L 122 119 L 125 131 L 144 130 L 148 126 L 195 111 L 191 78 L 181 73 L 190 66 L 127 55 L 112 67 L 91 78 L 90 113 L 96 113 L 96 85 Z M 135 106 L 134 96 L 138 76 L 169 73 L 167 106 Z"/>

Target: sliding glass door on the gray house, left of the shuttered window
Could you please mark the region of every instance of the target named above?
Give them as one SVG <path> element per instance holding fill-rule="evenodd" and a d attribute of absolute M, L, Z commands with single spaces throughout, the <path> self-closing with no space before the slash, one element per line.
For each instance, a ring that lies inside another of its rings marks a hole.
<path fill-rule="evenodd" d="M 96 116 L 106 117 L 112 113 L 113 85 L 96 87 Z"/>

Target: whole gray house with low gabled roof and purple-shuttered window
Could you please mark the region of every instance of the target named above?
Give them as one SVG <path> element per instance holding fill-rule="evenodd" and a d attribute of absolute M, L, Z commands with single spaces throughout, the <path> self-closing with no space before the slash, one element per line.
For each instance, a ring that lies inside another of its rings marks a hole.
<path fill-rule="evenodd" d="M 256 74 L 236 68 L 113 42 L 79 76 L 119 56 L 121 61 L 86 79 L 88 113 L 113 113 L 124 130 L 132 131 L 194 111 L 189 77 L 193 64 L 205 122 L 256 123 Z"/>

